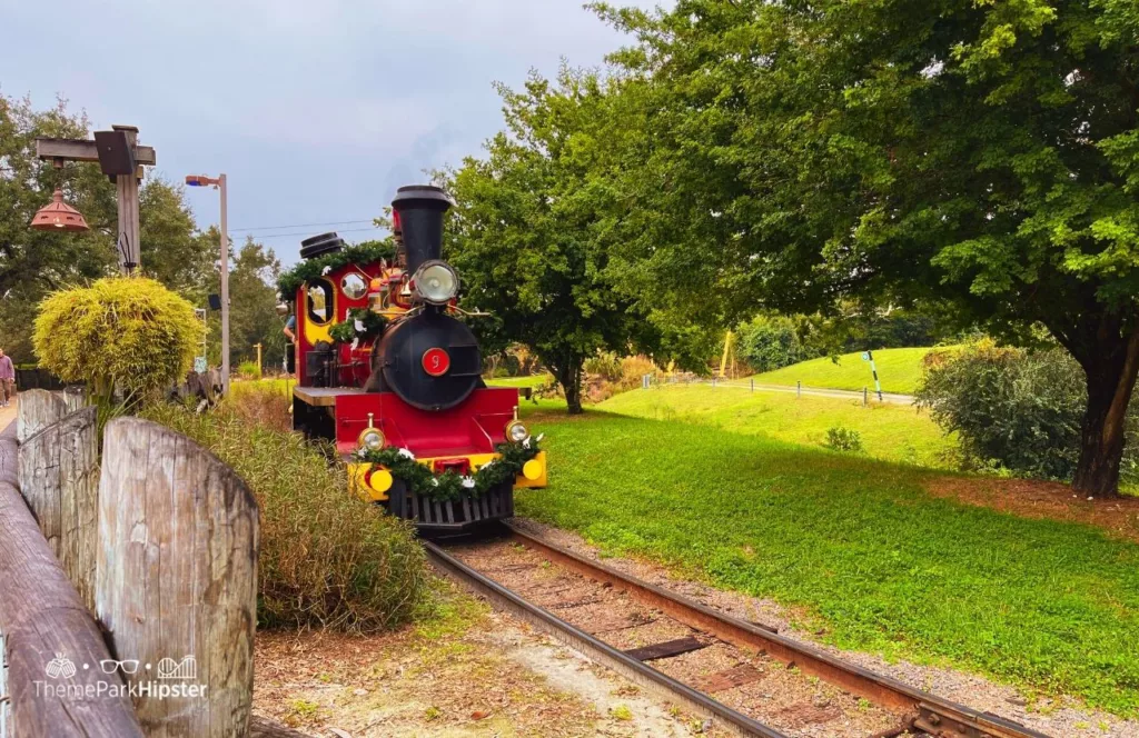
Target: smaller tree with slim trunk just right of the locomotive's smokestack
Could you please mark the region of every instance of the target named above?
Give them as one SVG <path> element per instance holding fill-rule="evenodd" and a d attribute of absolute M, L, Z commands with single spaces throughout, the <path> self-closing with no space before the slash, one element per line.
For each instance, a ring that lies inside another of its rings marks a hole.
<path fill-rule="evenodd" d="M 581 412 L 581 372 L 599 350 L 652 351 L 661 333 L 607 277 L 617 207 L 605 177 L 606 92 L 596 75 L 563 69 L 556 84 L 532 76 L 499 89 L 508 133 L 446 177 L 458 207 L 448 257 L 483 350 L 523 343 L 549 367 L 571 413 Z"/>

